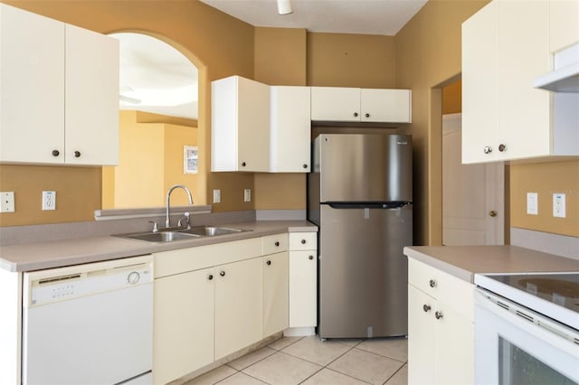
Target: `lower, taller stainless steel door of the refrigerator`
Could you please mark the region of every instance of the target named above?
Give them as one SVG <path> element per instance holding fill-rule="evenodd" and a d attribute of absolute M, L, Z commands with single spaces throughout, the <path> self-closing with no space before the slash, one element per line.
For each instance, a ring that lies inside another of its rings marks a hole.
<path fill-rule="evenodd" d="M 406 335 L 412 205 L 320 210 L 320 337 Z"/>

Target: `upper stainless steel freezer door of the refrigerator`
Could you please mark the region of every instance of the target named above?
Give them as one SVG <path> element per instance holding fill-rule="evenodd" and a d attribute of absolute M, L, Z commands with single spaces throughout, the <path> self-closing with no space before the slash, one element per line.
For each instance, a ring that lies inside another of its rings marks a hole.
<path fill-rule="evenodd" d="M 318 136 L 319 202 L 412 202 L 412 150 L 412 136 Z"/>

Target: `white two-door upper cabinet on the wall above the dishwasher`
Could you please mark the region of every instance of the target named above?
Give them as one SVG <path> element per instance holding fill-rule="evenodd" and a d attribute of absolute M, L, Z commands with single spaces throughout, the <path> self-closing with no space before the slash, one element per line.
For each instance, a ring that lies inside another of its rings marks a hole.
<path fill-rule="evenodd" d="M 0 162 L 118 164 L 119 42 L 0 4 Z"/>

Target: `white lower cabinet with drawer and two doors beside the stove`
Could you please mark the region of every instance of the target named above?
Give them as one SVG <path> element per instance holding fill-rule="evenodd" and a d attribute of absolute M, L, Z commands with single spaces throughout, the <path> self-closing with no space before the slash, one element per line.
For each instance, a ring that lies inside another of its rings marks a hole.
<path fill-rule="evenodd" d="M 474 286 L 408 259 L 408 383 L 474 380 Z"/>

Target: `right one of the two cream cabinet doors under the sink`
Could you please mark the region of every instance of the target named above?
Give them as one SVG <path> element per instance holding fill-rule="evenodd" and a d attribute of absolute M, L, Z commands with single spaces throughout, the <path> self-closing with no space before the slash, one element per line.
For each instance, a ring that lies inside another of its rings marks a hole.
<path fill-rule="evenodd" d="M 261 340 L 261 258 L 215 268 L 215 360 Z"/>

